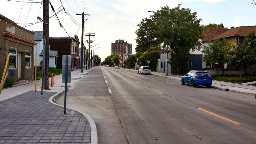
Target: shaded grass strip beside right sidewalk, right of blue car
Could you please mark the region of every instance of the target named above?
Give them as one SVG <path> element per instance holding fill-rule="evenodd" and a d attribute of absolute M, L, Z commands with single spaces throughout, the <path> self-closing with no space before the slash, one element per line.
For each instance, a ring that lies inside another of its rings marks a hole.
<path fill-rule="evenodd" d="M 245 76 L 242 75 L 242 80 L 240 81 L 240 76 L 235 75 L 220 75 L 220 76 L 213 76 L 213 80 L 218 80 L 218 81 L 225 81 L 225 82 L 232 82 L 232 83 L 246 83 L 246 82 L 251 82 L 251 81 L 256 81 L 256 76 Z"/>

